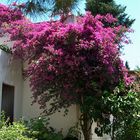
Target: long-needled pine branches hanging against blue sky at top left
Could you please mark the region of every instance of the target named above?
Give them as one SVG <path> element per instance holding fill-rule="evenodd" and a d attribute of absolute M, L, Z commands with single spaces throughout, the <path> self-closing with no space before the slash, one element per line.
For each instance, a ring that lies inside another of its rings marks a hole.
<path fill-rule="evenodd" d="M 8 0 L 13 2 L 14 0 Z M 17 0 L 16 2 L 23 2 Z M 19 4 L 21 5 L 21 4 Z M 25 14 L 31 16 L 48 14 L 50 16 L 55 15 L 67 15 L 71 11 L 77 11 L 79 0 L 26 0 L 24 1 L 24 7 L 22 10 Z"/>

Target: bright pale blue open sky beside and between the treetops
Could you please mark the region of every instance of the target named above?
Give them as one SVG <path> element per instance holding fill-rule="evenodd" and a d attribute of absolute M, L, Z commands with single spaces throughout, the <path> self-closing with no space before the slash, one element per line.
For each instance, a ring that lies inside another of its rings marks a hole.
<path fill-rule="evenodd" d="M 132 29 L 134 33 L 130 34 L 132 44 L 124 47 L 122 59 L 128 61 L 130 69 L 140 67 L 140 0 L 115 0 L 117 4 L 127 6 L 126 13 L 130 18 L 135 19 Z M 0 0 L 0 3 L 5 3 L 5 0 Z M 81 0 L 80 9 L 84 12 L 85 0 Z"/>

